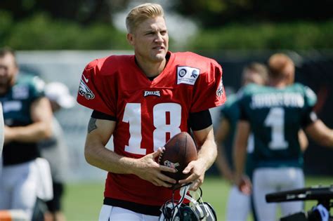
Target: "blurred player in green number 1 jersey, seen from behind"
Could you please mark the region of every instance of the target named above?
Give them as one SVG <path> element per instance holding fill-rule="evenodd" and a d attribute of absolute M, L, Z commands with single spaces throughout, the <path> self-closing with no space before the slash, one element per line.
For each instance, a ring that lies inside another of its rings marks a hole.
<path fill-rule="evenodd" d="M 268 86 L 249 84 L 239 100 L 240 121 L 237 123 L 234 146 L 235 182 L 242 192 L 249 185 L 242 182 L 247 156 L 247 140 L 254 135 L 254 208 L 258 220 L 275 220 L 276 203 L 266 203 L 270 192 L 304 186 L 303 153 L 299 130 L 323 146 L 333 146 L 333 131 L 313 112 L 316 95 L 294 79 L 294 62 L 278 53 L 268 61 Z M 282 215 L 303 208 L 301 201 L 280 203 Z"/>

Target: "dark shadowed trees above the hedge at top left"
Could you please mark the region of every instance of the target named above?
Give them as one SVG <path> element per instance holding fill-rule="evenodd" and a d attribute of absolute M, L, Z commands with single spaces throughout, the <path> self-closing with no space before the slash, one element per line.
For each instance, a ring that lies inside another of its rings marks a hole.
<path fill-rule="evenodd" d="M 9 11 L 18 22 L 37 13 L 47 13 L 52 19 L 89 25 L 93 22 L 112 24 L 110 15 L 127 4 L 129 0 L 1 0 L 0 8 Z"/>

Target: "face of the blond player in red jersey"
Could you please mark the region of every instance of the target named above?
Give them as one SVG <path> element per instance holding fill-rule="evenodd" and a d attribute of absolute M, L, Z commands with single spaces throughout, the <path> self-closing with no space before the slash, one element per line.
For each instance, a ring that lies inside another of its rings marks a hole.
<path fill-rule="evenodd" d="M 128 35 L 136 56 L 148 62 L 162 62 L 169 47 L 169 35 L 164 18 L 148 18 L 141 22 L 133 34 Z"/>

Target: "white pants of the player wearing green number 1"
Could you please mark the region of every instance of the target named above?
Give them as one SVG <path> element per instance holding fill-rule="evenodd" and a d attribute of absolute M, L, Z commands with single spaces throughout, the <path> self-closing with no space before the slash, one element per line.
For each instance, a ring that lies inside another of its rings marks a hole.
<path fill-rule="evenodd" d="M 266 194 L 304 187 L 301 168 L 258 168 L 253 175 L 254 208 L 259 221 L 276 220 L 276 207 L 282 216 L 303 210 L 303 201 L 267 203 Z"/>

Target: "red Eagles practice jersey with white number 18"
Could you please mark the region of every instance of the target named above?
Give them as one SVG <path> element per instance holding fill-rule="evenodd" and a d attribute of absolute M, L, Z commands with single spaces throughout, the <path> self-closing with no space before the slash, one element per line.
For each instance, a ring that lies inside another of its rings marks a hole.
<path fill-rule="evenodd" d="M 150 81 L 134 55 L 93 60 L 81 77 L 77 102 L 115 116 L 115 152 L 141 158 L 163 147 L 174 135 L 189 131 L 188 116 L 222 105 L 226 93 L 222 69 L 195 53 L 169 53 L 163 72 Z M 136 175 L 108 173 L 104 196 L 161 206 L 172 191 Z"/>

